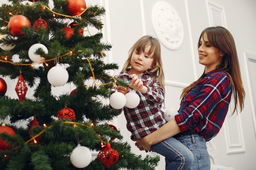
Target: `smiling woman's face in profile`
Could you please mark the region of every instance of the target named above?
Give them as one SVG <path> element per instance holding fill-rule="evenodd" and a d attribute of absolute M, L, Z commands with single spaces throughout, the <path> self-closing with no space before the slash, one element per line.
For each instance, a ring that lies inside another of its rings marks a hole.
<path fill-rule="evenodd" d="M 210 44 L 207 33 L 200 39 L 198 54 L 199 63 L 205 66 L 205 73 L 216 69 L 222 60 L 222 51 Z"/>

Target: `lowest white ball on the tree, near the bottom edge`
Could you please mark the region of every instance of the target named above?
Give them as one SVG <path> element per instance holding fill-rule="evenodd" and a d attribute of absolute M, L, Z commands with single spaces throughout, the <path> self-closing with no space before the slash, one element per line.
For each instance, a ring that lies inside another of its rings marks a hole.
<path fill-rule="evenodd" d="M 85 168 L 92 161 L 92 153 L 85 146 L 78 144 L 70 155 L 70 161 L 76 168 Z"/>

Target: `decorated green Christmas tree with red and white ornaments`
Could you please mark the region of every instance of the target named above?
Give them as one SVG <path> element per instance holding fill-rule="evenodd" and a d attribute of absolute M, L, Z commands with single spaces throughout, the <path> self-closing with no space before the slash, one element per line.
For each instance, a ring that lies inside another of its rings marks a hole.
<path fill-rule="evenodd" d="M 110 75 L 117 64 L 104 63 L 105 9 L 85 0 L 29 1 L 0 7 L 0 119 L 11 122 L 0 126 L 0 169 L 153 170 L 159 157 L 133 154 L 107 123 L 117 111 L 102 98 L 127 84 Z M 17 83 L 18 99 L 5 95 L 4 77 Z M 75 86 L 71 93 L 52 93 L 65 84 Z M 16 126 L 22 121 L 26 127 Z"/>

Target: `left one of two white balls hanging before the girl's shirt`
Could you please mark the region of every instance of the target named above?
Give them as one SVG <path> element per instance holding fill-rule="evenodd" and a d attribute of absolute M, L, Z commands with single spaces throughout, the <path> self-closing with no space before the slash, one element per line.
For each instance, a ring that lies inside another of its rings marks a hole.
<path fill-rule="evenodd" d="M 115 92 L 109 97 L 109 104 L 115 109 L 123 108 L 126 104 L 126 97 L 123 93 Z"/>

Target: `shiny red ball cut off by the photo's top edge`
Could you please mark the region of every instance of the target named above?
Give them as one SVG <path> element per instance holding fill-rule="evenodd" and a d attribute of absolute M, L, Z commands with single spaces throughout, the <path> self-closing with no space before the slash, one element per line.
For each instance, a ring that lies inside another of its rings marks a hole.
<path fill-rule="evenodd" d="M 79 15 L 86 9 L 85 0 L 67 0 L 67 12 L 72 15 Z"/>

